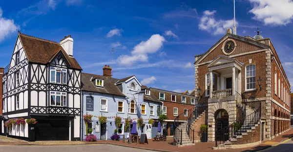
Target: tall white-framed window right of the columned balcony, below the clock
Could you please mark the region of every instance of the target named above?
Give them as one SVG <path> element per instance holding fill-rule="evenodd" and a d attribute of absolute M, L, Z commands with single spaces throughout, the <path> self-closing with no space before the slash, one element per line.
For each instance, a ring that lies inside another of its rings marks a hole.
<path fill-rule="evenodd" d="M 255 76 L 255 65 L 251 64 L 246 66 L 245 68 L 246 74 L 245 74 L 245 90 L 254 90 L 255 82 L 256 82 L 256 76 Z"/>

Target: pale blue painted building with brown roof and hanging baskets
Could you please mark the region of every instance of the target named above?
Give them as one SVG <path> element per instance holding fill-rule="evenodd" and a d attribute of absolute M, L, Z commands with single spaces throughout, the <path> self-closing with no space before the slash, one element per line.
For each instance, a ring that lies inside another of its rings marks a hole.
<path fill-rule="evenodd" d="M 82 84 L 82 115 L 93 115 L 89 128 L 98 140 L 110 140 L 115 129 L 118 129 L 118 134 L 125 134 L 126 137 L 128 130 L 125 128 L 125 118 L 127 117 L 136 122 L 140 117 L 144 119 L 143 125 L 137 128 L 138 134 L 146 133 L 148 138 L 157 134 L 157 128 L 149 125 L 148 120 L 158 119 L 157 110 L 161 109 L 163 103 L 152 96 L 150 90 L 141 85 L 135 76 L 113 78 L 111 68 L 105 66 L 103 76 L 83 73 Z M 107 122 L 104 124 L 100 124 L 101 115 L 107 117 Z M 116 116 L 122 117 L 119 128 L 115 126 Z M 85 123 L 84 121 L 81 123 L 82 140 L 84 140 Z"/>

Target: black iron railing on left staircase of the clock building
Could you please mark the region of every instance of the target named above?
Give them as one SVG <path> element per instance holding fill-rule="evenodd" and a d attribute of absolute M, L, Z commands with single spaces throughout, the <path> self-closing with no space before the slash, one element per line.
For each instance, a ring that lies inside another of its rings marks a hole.
<path fill-rule="evenodd" d="M 208 109 L 207 104 L 201 104 L 197 105 L 195 108 L 189 109 L 187 111 L 184 111 L 182 114 L 179 114 L 174 119 L 174 140 L 180 145 L 182 145 L 182 133 L 185 131 L 188 134 L 188 137 L 190 138 L 191 135 L 193 136 L 193 143 L 194 143 L 194 129 L 191 128 L 193 121 L 202 114 L 205 110 Z M 186 123 L 185 130 L 182 130 L 182 128 L 179 128 L 179 125 L 182 123 Z"/>

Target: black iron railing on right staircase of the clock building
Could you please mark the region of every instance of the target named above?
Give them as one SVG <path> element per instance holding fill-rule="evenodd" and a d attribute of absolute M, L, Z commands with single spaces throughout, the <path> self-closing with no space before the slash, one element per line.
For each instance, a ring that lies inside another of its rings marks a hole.
<path fill-rule="evenodd" d="M 239 94 L 236 94 L 236 96 Z M 241 95 L 240 95 L 241 96 Z M 237 96 L 237 105 L 242 106 L 242 116 L 236 117 L 236 120 L 229 126 L 215 132 L 215 143 L 217 147 L 217 134 L 221 135 L 221 141 L 231 141 L 233 138 L 237 138 L 238 135 L 242 133 L 247 133 L 247 130 L 251 130 L 252 127 L 255 127 L 261 118 L 261 102 L 254 97 L 243 98 Z M 238 98 L 239 97 L 239 98 Z M 241 101 L 239 101 L 241 99 Z M 246 111 L 250 107 L 253 112 L 246 115 Z"/>

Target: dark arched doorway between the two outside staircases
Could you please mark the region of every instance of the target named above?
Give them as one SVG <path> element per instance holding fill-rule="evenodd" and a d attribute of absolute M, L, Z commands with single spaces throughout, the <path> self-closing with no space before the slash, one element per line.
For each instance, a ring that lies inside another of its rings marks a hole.
<path fill-rule="evenodd" d="M 217 138 L 217 141 L 224 141 L 224 140 L 228 140 L 228 136 L 229 136 L 229 130 L 225 130 L 225 133 L 223 134 L 223 132 L 217 132 L 220 131 L 226 127 L 229 126 L 229 114 L 227 113 L 226 110 L 224 109 L 219 109 L 216 113 L 215 113 L 215 127 L 216 127 L 216 135 L 215 137 Z"/>

